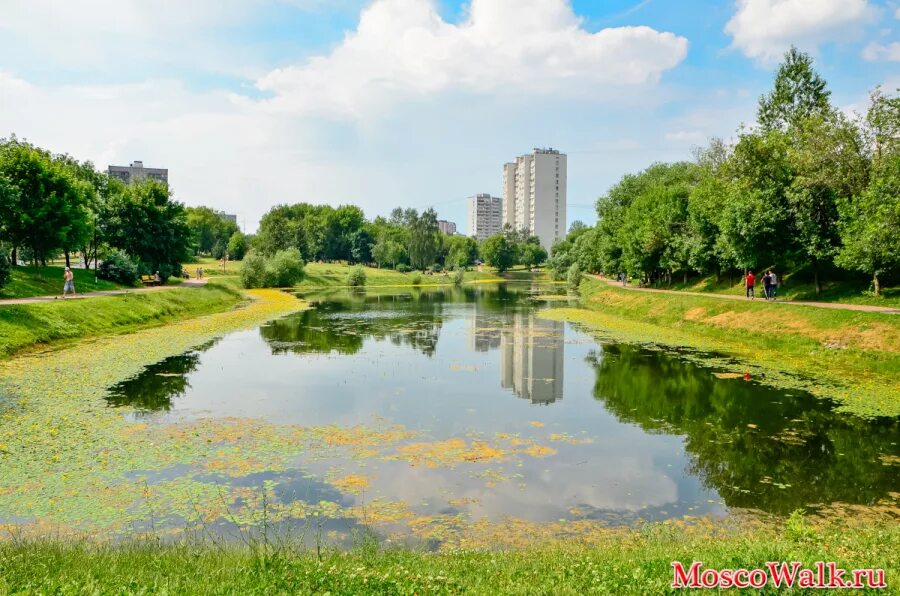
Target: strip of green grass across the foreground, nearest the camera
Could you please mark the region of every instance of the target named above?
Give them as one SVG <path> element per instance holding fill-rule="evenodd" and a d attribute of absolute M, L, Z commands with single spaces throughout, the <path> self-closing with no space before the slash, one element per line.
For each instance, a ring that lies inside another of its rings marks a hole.
<path fill-rule="evenodd" d="M 833 561 L 882 568 L 897 593 L 900 527 L 889 519 L 810 524 L 654 524 L 512 551 L 349 553 L 213 547 L 155 541 L 119 546 L 39 541 L 0 545 L 0 592 L 168 594 L 661 594 L 674 592 L 672 561 L 705 568 L 764 568 L 768 561 Z M 847 574 L 849 576 L 849 572 Z M 772 592 L 777 590 L 770 584 Z M 796 594 L 811 591 L 795 589 Z"/>

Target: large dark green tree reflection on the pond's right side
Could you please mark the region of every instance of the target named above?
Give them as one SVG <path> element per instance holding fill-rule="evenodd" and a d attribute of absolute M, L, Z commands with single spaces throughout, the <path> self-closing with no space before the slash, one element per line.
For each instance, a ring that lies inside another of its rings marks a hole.
<path fill-rule="evenodd" d="M 834 501 L 873 503 L 900 490 L 896 468 L 879 459 L 898 452 L 896 419 L 838 415 L 827 402 L 717 379 L 632 346 L 606 346 L 591 361 L 595 398 L 620 420 L 686 435 L 691 471 L 729 506 L 786 513 Z"/>

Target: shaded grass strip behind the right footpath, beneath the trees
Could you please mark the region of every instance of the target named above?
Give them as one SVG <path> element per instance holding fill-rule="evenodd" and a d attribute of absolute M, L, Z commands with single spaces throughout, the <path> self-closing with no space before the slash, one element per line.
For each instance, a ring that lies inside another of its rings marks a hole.
<path fill-rule="evenodd" d="M 763 296 L 762 276 L 765 269 L 757 273 L 756 291 L 759 298 Z M 776 273 L 780 273 L 777 272 Z M 722 276 L 717 281 L 715 276 L 704 276 L 700 278 L 688 278 L 687 283 L 683 283 L 680 277 L 677 277 L 678 283 L 671 286 L 661 285 L 661 289 L 668 290 L 688 290 L 691 292 L 712 292 L 716 294 L 729 294 L 733 296 L 744 296 L 745 289 L 743 278 L 737 274 L 731 277 Z M 871 306 L 887 306 L 900 307 L 900 286 L 888 286 L 881 288 L 881 296 L 876 297 L 871 292 L 871 284 L 869 280 L 863 279 L 831 279 L 827 276 L 822 278 L 822 292 L 816 295 L 815 284 L 809 278 L 806 272 L 787 273 L 780 276 L 778 283 L 778 299 L 779 300 L 803 300 L 811 302 L 840 302 L 844 304 L 868 304 Z"/>

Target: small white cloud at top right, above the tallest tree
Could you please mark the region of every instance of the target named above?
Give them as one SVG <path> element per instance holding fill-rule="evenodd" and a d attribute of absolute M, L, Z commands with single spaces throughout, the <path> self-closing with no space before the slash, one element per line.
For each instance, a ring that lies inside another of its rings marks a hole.
<path fill-rule="evenodd" d="M 791 44 L 815 50 L 855 38 L 876 16 L 868 0 L 737 0 L 725 32 L 748 57 L 770 61 Z"/>

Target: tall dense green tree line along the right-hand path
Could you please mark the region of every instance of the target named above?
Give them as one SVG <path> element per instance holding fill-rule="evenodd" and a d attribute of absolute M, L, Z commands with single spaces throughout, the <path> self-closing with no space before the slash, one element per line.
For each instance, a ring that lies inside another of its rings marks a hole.
<path fill-rule="evenodd" d="M 866 113 L 831 103 L 809 55 L 791 48 L 757 125 L 713 140 L 691 162 L 624 176 L 552 249 L 573 265 L 646 283 L 778 266 L 864 273 L 876 294 L 900 270 L 900 97 L 876 88 Z"/>

